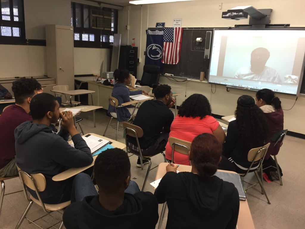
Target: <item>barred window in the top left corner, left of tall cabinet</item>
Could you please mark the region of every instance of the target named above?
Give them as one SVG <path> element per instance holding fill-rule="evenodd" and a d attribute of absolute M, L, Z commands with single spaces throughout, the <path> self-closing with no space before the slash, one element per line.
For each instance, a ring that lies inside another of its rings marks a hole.
<path fill-rule="evenodd" d="M 23 0 L 1 0 L 0 8 L 0 43 L 17 44 L 25 42 Z"/>

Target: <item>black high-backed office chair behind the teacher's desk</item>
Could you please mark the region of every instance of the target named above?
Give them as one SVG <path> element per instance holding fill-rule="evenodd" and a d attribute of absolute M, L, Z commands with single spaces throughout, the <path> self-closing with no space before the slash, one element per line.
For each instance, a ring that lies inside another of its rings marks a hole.
<path fill-rule="evenodd" d="M 149 86 L 153 90 L 158 86 L 160 78 L 160 67 L 156 65 L 144 65 L 143 75 L 141 80 L 137 80 L 136 83 L 140 83 L 141 86 Z"/>

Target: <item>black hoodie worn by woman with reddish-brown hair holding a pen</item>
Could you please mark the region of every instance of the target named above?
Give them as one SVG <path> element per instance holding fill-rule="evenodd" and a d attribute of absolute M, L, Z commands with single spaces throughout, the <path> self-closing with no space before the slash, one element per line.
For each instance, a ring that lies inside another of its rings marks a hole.
<path fill-rule="evenodd" d="M 166 173 L 155 191 L 159 203 L 167 202 L 166 229 L 235 229 L 239 194 L 234 184 L 190 172 Z"/>

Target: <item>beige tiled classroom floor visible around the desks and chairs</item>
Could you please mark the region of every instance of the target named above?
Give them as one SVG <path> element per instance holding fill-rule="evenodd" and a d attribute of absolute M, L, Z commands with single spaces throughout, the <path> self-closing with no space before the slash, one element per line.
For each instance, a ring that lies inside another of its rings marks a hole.
<path fill-rule="evenodd" d="M 102 135 L 109 121 L 109 117 L 106 116 L 106 111 L 100 109 L 96 112 L 96 127 L 93 127 L 92 112 L 81 113 L 81 117 L 84 120 L 81 125 L 85 133 L 96 133 Z M 224 121 L 222 121 L 224 122 Z M 109 127 L 106 136 L 115 139 L 115 129 Z M 123 132 L 119 131 L 118 141 L 124 143 Z M 247 191 L 247 200 L 253 217 L 255 228 L 257 229 L 286 229 L 305 228 L 305 167 L 303 163 L 305 161 L 304 154 L 305 140 L 286 136 L 283 146 L 281 147 L 278 155 L 278 163 L 281 165 L 284 176 L 282 177 L 283 186 L 278 181 L 271 183 L 264 182 L 265 190 L 268 194 L 268 198 L 271 205 L 267 204 L 264 195 L 260 194 L 260 187 L 250 188 Z M 131 156 L 131 177 L 135 180 L 140 189 L 145 178 L 146 170 L 141 170 L 135 166 L 137 157 Z M 152 158 L 152 168 L 163 162 L 162 155 L 156 155 Z M 149 177 L 145 186 L 145 191 L 153 192 L 152 186 L 149 185 L 156 176 L 156 169 L 153 169 L 149 173 Z M 247 181 L 252 180 L 253 175 L 247 177 Z M 14 178 L 5 181 L 6 190 L 4 197 L 4 203 L 2 206 L 2 212 L 0 216 L 0 229 L 12 229 L 16 227 L 18 220 L 20 219 L 23 211 L 26 209 L 28 202 L 21 191 L 21 183 L 19 178 Z M 13 194 L 9 194 L 16 192 Z M 159 205 L 159 214 L 161 212 L 161 205 Z M 31 220 L 36 220 L 45 213 L 33 204 L 28 213 L 28 217 Z M 53 216 L 61 218 L 59 213 L 53 213 Z M 49 222 L 55 222 L 55 220 L 48 217 Z M 162 228 L 165 228 L 166 217 L 163 221 Z M 43 228 L 48 228 L 48 225 L 42 220 L 38 220 L 38 224 L 41 224 Z M 158 226 L 158 224 L 157 224 Z M 29 224 L 27 220 L 24 220 L 20 228 L 37 228 L 33 224 Z M 157 228 L 157 227 L 156 227 Z"/>

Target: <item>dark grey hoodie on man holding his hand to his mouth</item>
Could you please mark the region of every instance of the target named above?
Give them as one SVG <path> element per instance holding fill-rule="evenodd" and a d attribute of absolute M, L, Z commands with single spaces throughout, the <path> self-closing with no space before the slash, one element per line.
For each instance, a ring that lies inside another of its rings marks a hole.
<path fill-rule="evenodd" d="M 40 192 L 45 203 L 57 203 L 69 181 L 53 181 L 53 176 L 71 167 L 87 166 L 93 162 L 90 148 L 80 134 L 72 137 L 75 148 L 66 141 L 69 136 L 66 131 L 61 130 L 56 135 L 52 133 L 52 127 L 32 121 L 17 126 L 14 134 L 16 164 L 24 172 L 45 176 L 47 186 Z M 37 198 L 34 191 L 29 192 Z"/>

